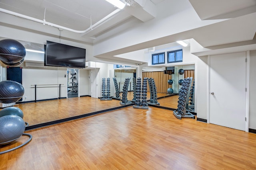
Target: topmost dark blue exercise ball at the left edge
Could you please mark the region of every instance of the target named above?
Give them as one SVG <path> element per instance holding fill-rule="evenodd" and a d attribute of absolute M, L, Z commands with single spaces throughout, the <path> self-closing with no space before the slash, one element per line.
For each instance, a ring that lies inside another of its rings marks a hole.
<path fill-rule="evenodd" d="M 5 63 L 18 63 L 26 55 L 25 47 L 14 39 L 0 40 L 0 60 Z"/>

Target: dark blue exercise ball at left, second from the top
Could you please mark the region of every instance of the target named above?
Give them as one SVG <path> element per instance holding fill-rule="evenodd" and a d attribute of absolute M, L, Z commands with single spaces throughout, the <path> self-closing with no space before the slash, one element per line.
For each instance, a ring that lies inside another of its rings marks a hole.
<path fill-rule="evenodd" d="M 17 102 L 24 95 L 24 88 L 22 84 L 12 80 L 5 80 L 0 82 L 0 102 L 13 103 Z"/>

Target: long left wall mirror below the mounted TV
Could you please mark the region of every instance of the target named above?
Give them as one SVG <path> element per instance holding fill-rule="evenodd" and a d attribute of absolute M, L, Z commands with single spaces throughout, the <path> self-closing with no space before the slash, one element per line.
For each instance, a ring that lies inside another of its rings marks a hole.
<path fill-rule="evenodd" d="M 44 51 L 42 44 L 19 42 L 26 49 Z M 7 78 L 7 72 L 10 72 L 7 66 L 2 62 L 0 66 L 0 80 L 12 80 Z M 99 99 L 102 97 L 102 78 L 110 78 L 110 95 L 115 96 L 113 78 L 118 79 L 118 88 L 122 89 L 123 78 L 132 78 L 136 70 L 130 67 L 115 69 L 114 64 L 96 62 L 88 62 L 85 69 L 44 66 L 44 54 L 30 51 L 26 52 L 25 60 L 18 68 L 22 70 L 21 83 L 25 93 L 22 101 L 14 106 L 23 111 L 24 121 L 30 126 L 119 107 L 120 98 Z"/>

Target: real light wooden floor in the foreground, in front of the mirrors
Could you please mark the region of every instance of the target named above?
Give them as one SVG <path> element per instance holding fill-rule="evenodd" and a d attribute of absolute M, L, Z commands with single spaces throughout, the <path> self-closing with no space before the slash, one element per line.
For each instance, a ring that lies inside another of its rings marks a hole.
<path fill-rule="evenodd" d="M 0 155 L 0 170 L 256 169 L 256 134 L 176 119 L 156 107 L 126 107 L 27 133 L 28 145 Z"/>

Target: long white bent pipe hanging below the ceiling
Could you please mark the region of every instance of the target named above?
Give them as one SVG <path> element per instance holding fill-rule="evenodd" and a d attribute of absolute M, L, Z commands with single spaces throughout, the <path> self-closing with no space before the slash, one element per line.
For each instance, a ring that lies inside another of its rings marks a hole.
<path fill-rule="evenodd" d="M 115 14 L 117 14 L 118 12 L 120 12 L 121 10 L 118 8 L 116 10 L 114 10 L 113 12 L 111 12 L 110 14 L 108 14 L 107 16 L 105 16 L 104 18 L 102 18 L 100 21 L 94 23 L 93 25 L 91 25 L 89 28 L 87 28 L 86 30 L 83 30 L 83 31 L 79 31 L 79 30 L 75 30 L 75 29 L 70 29 L 70 28 L 67 28 L 67 27 L 63 27 L 61 25 L 57 25 L 57 24 L 54 24 L 54 23 L 50 23 L 50 22 L 47 22 L 45 20 L 39 20 L 39 19 L 36 19 L 36 18 L 33 18 L 33 17 L 30 17 L 30 16 L 25 16 L 23 14 L 19 14 L 19 13 L 16 13 L 16 12 L 12 12 L 12 11 L 9 11 L 9 10 L 5 10 L 5 9 L 2 9 L 0 8 L 0 12 L 4 12 L 6 14 L 10 14 L 10 15 L 13 15 L 13 16 L 18 16 L 20 18 L 24 18 L 24 19 L 27 19 L 27 20 L 31 20 L 31 21 L 35 21 L 35 22 L 39 22 L 39 23 L 42 23 L 42 24 L 46 24 L 46 25 L 50 25 L 52 27 L 56 27 L 56 28 L 60 28 L 60 29 L 65 29 L 65 30 L 68 30 L 68 31 L 72 31 L 72 32 L 75 32 L 75 33 L 87 33 L 88 31 L 94 29 L 95 27 L 97 27 L 99 24 L 101 24 L 102 22 L 108 20 L 110 17 L 114 16 Z"/>

